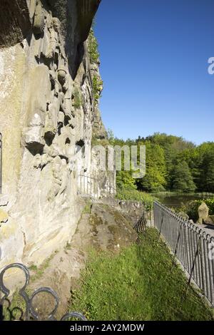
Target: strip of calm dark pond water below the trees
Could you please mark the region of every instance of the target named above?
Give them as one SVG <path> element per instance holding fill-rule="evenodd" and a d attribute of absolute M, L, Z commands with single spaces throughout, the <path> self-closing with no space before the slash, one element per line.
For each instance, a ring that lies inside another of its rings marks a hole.
<path fill-rule="evenodd" d="M 187 205 L 192 200 L 213 198 L 214 195 L 196 194 L 196 195 L 160 195 L 156 197 L 167 207 L 180 207 L 180 205 Z"/>

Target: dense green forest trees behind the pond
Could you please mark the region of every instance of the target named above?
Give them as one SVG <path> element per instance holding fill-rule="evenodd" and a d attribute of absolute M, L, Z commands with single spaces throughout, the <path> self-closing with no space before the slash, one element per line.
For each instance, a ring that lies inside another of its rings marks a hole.
<path fill-rule="evenodd" d="M 109 131 L 108 138 L 111 145 L 146 145 L 146 176 L 136 180 L 131 171 L 118 171 L 118 187 L 146 192 L 214 192 L 213 142 L 196 146 L 165 133 L 121 140 Z"/>

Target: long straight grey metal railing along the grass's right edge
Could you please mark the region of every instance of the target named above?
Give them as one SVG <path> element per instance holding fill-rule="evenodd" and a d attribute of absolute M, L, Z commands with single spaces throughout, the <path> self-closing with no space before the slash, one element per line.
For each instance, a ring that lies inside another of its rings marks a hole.
<path fill-rule="evenodd" d="M 154 225 L 191 279 L 214 306 L 214 237 L 154 202 Z"/>

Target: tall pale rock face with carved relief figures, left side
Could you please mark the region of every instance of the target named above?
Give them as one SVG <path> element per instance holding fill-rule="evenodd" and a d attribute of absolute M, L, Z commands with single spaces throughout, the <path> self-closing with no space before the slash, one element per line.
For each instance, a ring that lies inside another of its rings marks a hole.
<path fill-rule="evenodd" d="M 71 241 L 82 208 L 78 173 L 98 175 L 91 138 L 94 127 L 97 138 L 106 130 L 86 39 L 99 2 L 1 1 L 0 268 L 41 264 Z"/>

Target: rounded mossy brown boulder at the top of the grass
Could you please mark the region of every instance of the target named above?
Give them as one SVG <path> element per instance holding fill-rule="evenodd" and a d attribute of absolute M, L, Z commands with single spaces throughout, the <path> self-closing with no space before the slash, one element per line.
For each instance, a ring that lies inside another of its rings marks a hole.
<path fill-rule="evenodd" d="M 93 203 L 83 215 L 72 246 L 82 251 L 93 246 L 98 250 L 118 250 L 136 242 L 137 234 L 133 222 L 126 212 L 121 212 L 109 205 Z"/>

